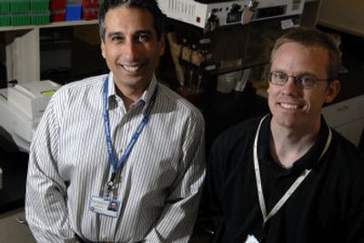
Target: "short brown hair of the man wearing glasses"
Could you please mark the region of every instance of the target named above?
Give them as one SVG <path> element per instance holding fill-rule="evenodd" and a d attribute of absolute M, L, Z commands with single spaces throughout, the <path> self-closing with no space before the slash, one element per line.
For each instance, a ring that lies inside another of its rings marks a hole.
<path fill-rule="evenodd" d="M 298 43 L 307 48 L 321 47 L 327 50 L 329 53 L 329 64 L 327 66 L 328 78 L 330 80 L 338 79 L 341 56 L 339 46 L 336 44 L 333 35 L 312 28 L 294 28 L 278 38 L 270 53 L 270 63 L 278 48 L 285 43 Z"/>

